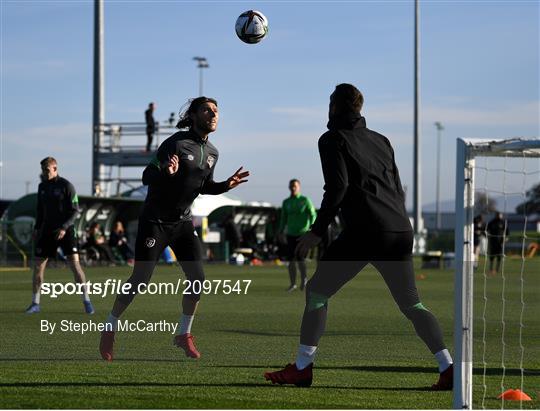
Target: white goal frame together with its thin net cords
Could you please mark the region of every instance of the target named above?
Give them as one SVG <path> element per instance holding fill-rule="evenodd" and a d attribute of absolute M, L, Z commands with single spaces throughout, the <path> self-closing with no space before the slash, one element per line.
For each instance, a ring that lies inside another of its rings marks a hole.
<path fill-rule="evenodd" d="M 473 408 L 473 329 L 474 329 L 474 314 L 473 314 L 473 281 L 474 281 L 474 229 L 473 219 L 475 217 L 475 190 L 478 190 L 479 184 L 475 181 L 475 174 L 477 173 L 477 159 L 480 158 L 492 158 L 499 157 L 505 162 L 506 159 L 521 158 L 523 164 L 525 161 L 529 161 L 530 158 L 540 158 L 540 139 L 538 138 L 513 138 L 513 139 L 458 139 L 457 141 L 457 162 L 456 162 L 456 229 L 455 229 L 455 256 L 456 256 L 456 272 L 455 272 L 455 317 L 454 317 L 454 342 L 455 342 L 455 361 L 454 361 L 454 409 L 471 409 Z M 534 160 L 532 172 L 525 170 L 521 171 L 522 178 L 526 180 L 527 175 L 533 176 L 533 181 L 540 181 L 540 161 L 536 163 Z M 503 189 L 500 191 L 494 191 L 501 194 L 505 199 L 507 191 L 504 187 L 506 175 L 512 174 L 506 167 L 494 168 L 493 170 L 502 172 L 503 174 Z M 483 171 L 493 171 L 488 167 L 485 167 Z M 514 172 L 514 174 L 519 174 Z M 519 178 L 516 177 L 516 178 Z M 525 184 L 523 184 L 524 186 Z M 524 192 L 528 187 L 522 187 L 520 194 L 524 196 Z M 487 192 L 487 189 L 486 189 Z M 515 194 L 512 193 L 512 194 Z M 507 210 L 505 210 L 507 211 Z M 521 332 L 523 328 L 522 317 L 523 310 L 525 308 L 525 302 L 523 300 L 523 266 L 525 264 L 525 238 L 526 238 L 526 225 L 527 217 L 524 216 L 525 225 L 523 227 L 523 241 L 521 247 L 521 317 L 519 319 L 519 341 L 521 346 L 521 381 L 523 385 L 523 346 L 521 345 Z M 506 220 L 505 220 L 506 221 Z M 508 224 L 508 223 L 505 223 Z M 503 243 L 504 244 L 504 243 Z M 505 250 L 503 245 L 502 251 L 502 375 L 503 380 L 501 387 L 504 386 L 504 259 Z M 486 256 L 487 257 L 487 256 Z M 484 269 L 484 277 L 486 272 Z M 484 283 L 485 284 L 485 283 Z M 485 285 L 484 285 L 484 304 L 485 298 Z M 484 333 L 483 341 L 485 345 L 485 313 L 486 307 L 484 306 Z M 485 353 L 485 350 L 484 350 Z M 484 360 L 484 381 L 485 381 L 485 360 Z M 484 399 L 485 399 L 485 382 L 484 382 Z M 481 406 L 484 407 L 484 399 Z"/>

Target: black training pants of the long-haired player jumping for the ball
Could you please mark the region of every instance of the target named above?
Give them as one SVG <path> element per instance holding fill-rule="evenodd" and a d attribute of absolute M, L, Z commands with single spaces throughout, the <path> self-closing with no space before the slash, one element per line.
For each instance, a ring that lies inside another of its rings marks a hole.
<path fill-rule="evenodd" d="M 201 243 L 191 220 L 158 223 L 141 217 L 135 242 L 133 274 L 126 281 L 132 286 L 129 293 L 118 296 L 120 302 L 126 305 L 130 304 L 138 292 L 139 284 L 148 284 L 154 268 L 167 246 L 170 246 L 174 251 L 188 280 L 192 282 L 195 280 L 204 281 Z M 196 294 L 193 291 L 187 296 L 197 301 L 200 299 L 200 293 Z"/>

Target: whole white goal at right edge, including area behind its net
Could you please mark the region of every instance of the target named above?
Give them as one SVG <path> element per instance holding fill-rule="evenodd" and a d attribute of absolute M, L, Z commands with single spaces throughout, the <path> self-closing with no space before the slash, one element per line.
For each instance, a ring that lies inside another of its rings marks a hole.
<path fill-rule="evenodd" d="M 540 139 L 458 139 L 456 165 L 453 407 L 522 408 L 499 397 L 540 381 Z"/>

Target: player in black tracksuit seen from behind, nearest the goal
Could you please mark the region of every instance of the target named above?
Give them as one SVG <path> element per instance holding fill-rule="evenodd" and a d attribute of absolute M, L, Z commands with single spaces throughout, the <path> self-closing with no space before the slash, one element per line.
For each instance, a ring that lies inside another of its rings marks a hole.
<path fill-rule="evenodd" d="M 330 96 L 329 131 L 319 139 L 324 196 L 315 223 L 299 240 L 297 254 L 305 255 L 321 241 L 338 211 L 344 229 L 329 245 L 307 283 L 296 362 L 283 370 L 265 373 L 265 378 L 278 384 L 311 385 L 328 300 L 367 264 L 372 264 L 435 355 L 440 376 L 432 389 L 449 390 L 452 358 L 437 320 L 422 305 L 416 289 L 413 232 L 394 151 L 386 137 L 366 127 L 360 115 L 363 101 L 360 91 L 350 84 L 338 85 Z"/>

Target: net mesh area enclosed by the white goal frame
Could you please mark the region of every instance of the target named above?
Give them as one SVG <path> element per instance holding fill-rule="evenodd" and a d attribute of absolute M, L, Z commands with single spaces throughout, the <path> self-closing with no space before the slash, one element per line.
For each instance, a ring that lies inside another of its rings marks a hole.
<path fill-rule="evenodd" d="M 531 338 L 534 332 L 526 333 L 527 321 L 534 316 L 526 308 L 531 298 L 539 297 L 539 281 L 532 278 L 539 267 L 538 257 L 531 251 L 538 242 L 537 228 L 532 224 L 538 217 L 530 215 L 526 207 L 516 210 L 528 200 L 528 191 L 540 184 L 540 158 L 537 152 L 527 150 L 501 152 L 499 156 L 479 152 L 473 175 L 475 298 L 481 301 L 474 314 L 481 341 L 473 347 L 473 358 L 479 359 L 474 378 L 479 378 L 481 389 L 474 393 L 473 401 L 475 408 L 486 409 L 494 408 L 491 401 L 510 388 L 531 388 L 525 379 L 527 350 L 536 355 L 531 344 L 538 341 Z M 498 212 L 501 220 L 495 218 Z M 504 398 L 500 402 L 502 409 L 508 405 Z"/>

